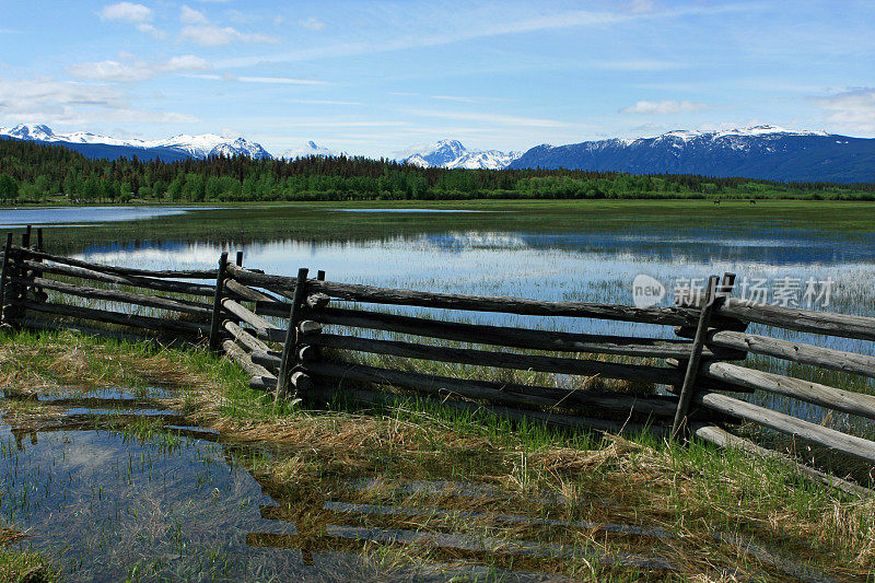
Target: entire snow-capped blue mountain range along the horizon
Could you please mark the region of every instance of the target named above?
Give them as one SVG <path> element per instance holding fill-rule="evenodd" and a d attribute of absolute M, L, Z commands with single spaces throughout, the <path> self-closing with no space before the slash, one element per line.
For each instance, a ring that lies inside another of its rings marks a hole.
<path fill-rule="evenodd" d="M 179 135 L 161 140 L 118 139 L 78 131 L 58 133 L 44 125 L 0 128 L 0 138 L 63 145 L 89 158 L 172 162 L 190 158 L 243 154 L 273 156 L 244 138 L 214 133 Z M 278 159 L 349 155 L 310 141 Z M 701 174 L 782 182 L 875 182 L 875 139 L 851 138 L 824 131 L 795 131 L 755 126 L 722 131 L 676 130 L 651 138 L 585 141 L 567 145 L 537 145 L 525 153 L 468 150 L 458 140 L 441 140 L 410 149 L 398 162 L 444 168 L 570 168 L 632 174 Z"/>

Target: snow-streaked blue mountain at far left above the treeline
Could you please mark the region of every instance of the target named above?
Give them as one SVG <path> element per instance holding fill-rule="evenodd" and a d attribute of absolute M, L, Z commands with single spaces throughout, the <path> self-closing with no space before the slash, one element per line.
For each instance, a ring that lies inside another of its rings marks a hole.
<path fill-rule="evenodd" d="M 225 138 L 215 133 L 199 136 L 183 133 L 160 140 L 124 140 L 86 131 L 59 133 L 45 125 L 19 125 L 14 128 L 0 128 L 0 137 L 3 136 L 19 140 L 59 143 L 90 158 L 115 159 L 137 155 L 141 160 L 179 160 L 220 154 L 271 158 L 267 150 L 258 143 L 244 138 Z"/>

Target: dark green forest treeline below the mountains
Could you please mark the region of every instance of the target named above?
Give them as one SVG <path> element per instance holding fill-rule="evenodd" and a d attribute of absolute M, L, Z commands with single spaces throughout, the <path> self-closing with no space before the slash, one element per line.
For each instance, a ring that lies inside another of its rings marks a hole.
<path fill-rule="evenodd" d="M 419 168 L 390 160 L 245 156 L 179 162 L 92 160 L 61 145 L 0 139 L 0 199 L 453 200 L 472 198 L 810 198 L 875 200 L 875 184 L 773 183 L 572 170 Z"/>

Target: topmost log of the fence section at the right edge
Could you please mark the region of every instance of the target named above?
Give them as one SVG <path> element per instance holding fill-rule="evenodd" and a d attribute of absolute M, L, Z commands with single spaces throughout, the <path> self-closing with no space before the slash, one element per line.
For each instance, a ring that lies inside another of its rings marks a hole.
<path fill-rule="evenodd" d="M 693 299 L 693 305 L 701 302 L 701 296 Z M 737 298 L 726 298 L 714 314 L 803 333 L 875 340 L 875 318 L 867 316 L 768 305 Z"/>

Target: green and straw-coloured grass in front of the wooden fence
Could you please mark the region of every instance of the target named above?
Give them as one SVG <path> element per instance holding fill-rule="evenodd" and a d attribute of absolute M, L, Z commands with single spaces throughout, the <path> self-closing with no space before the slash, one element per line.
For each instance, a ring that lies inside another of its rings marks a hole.
<path fill-rule="evenodd" d="M 745 543 L 754 540 L 833 576 L 875 581 L 875 499 L 849 498 L 740 452 L 648 434 L 630 441 L 560 432 L 485 412 L 453 413 L 412 398 L 368 409 L 342 399 L 324 410 L 273 408 L 246 387 L 246 375 L 233 363 L 198 349 L 66 333 L 19 333 L 0 345 L 0 388 L 14 396 L 2 401 L 7 422 L 38 425 L 58 418 L 60 407 L 27 400 L 34 393 L 84 398 L 118 386 L 143 393 L 164 387 L 167 393 L 155 403 L 221 431 L 236 463 L 278 502 L 272 512 L 298 526 L 292 538 L 254 534 L 247 538 L 252 545 L 351 551 L 384 572 L 448 564 L 450 573 L 480 564 L 486 579 L 506 570 L 591 581 L 786 579 L 748 551 Z M 155 421 L 106 423 L 138 439 L 162 432 Z M 445 487 L 410 490 L 413 483 Z M 462 491 L 466 485 L 475 491 Z M 326 508 L 337 500 L 395 510 Z M 528 518 L 502 518 L 521 515 Z M 564 524 L 573 521 L 591 526 Z M 660 528 L 670 536 L 605 530 L 605 524 Z M 331 533 L 338 525 L 400 529 L 419 538 L 337 538 Z M 441 534 L 479 546 L 436 544 Z M 506 551 L 518 540 L 572 553 L 560 559 Z M 658 557 L 677 571 L 596 560 L 621 553 Z"/>

